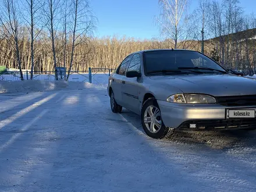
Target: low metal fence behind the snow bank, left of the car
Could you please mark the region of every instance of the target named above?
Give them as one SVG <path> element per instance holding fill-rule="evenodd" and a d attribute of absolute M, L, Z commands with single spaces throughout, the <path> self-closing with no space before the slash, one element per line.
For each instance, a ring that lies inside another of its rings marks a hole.
<path fill-rule="evenodd" d="M 72 70 L 69 74 L 69 81 L 80 81 L 88 82 L 94 84 L 107 84 L 108 77 L 111 73 L 115 72 L 115 69 L 108 68 L 91 68 L 88 70 L 78 71 Z M 43 80 L 43 81 L 56 81 L 56 80 L 66 80 L 67 73 L 58 72 L 58 79 L 56 79 L 55 71 L 40 71 L 33 72 L 32 80 Z M 30 80 L 31 72 L 29 70 L 23 71 L 23 79 Z M 0 81 L 20 81 L 20 72 L 3 72 L 0 73 Z"/>

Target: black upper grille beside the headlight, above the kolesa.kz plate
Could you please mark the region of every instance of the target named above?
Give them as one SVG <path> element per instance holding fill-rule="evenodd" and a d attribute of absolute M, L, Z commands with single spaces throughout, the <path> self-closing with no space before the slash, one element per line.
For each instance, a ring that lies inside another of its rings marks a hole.
<path fill-rule="evenodd" d="M 223 106 L 254 106 L 256 95 L 216 97 L 216 102 Z"/>

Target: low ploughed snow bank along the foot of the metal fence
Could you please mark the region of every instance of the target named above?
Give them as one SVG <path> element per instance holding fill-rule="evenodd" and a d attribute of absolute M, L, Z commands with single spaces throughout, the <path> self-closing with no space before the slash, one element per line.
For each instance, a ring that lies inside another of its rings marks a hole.
<path fill-rule="evenodd" d="M 54 91 L 54 90 L 77 90 L 84 88 L 105 88 L 106 85 L 95 85 L 87 82 L 70 81 L 0 81 L 0 93 L 18 93 L 34 91 Z"/>

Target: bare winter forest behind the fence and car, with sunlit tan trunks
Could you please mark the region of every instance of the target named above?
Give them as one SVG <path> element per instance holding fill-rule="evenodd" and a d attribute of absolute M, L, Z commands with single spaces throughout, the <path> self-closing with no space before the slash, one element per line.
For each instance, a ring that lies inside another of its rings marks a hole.
<path fill-rule="evenodd" d="M 256 17 L 239 0 L 198 0 L 192 12 L 187 0 L 159 0 L 159 38 L 151 40 L 94 37 L 97 16 L 86 0 L 1 1 L 0 66 L 20 73 L 113 69 L 131 52 L 158 48 L 192 49 L 224 67 L 255 71 Z"/>

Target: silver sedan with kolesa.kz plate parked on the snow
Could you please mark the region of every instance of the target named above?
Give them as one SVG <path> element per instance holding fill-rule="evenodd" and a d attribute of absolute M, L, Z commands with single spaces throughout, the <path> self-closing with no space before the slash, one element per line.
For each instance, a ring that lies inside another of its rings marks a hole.
<path fill-rule="evenodd" d="M 128 55 L 108 81 L 111 109 L 137 113 L 145 133 L 252 130 L 256 81 L 229 74 L 197 51 L 155 49 Z"/>

